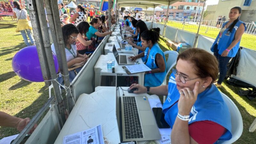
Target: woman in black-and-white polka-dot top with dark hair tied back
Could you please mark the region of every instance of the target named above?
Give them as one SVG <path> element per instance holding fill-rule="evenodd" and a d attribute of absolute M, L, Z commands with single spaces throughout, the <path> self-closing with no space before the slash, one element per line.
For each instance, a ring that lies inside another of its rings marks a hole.
<path fill-rule="evenodd" d="M 77 26 L 81 21 L 86 21 L 86 12 L 81 5 L 77 5 L 76 13 L 69 19 L 69 22 L 75 22 L 75 26 Z"/>

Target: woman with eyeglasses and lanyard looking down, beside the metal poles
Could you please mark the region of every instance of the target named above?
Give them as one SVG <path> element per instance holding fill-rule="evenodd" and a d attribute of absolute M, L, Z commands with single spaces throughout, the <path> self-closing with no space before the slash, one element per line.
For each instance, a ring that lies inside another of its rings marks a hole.
<path fill-rule="evenodd" d="M 66 53 L 68 68 L 71 68 L 74 64 L 86 62 L 88 60 L 88 57 L 86 57 L 87 55 L 79 54 L 76 50 L 75 42 L 79 34 L 79 31 L 76 28 L 76 26 L 73 24 L 66 24 L 61 29 L 62 29 L 63 40 L 65 44 L 65 53 Z M 52 48 L 52 52 L 56 53 L 54 44 L 51 45 L 51 48 Z M 76 77 L 76 73 L 78 73 L 81 69 L 82 67 L 69 71 L 70 82 L 72 82 L 72 80 Z M 58 77 L 58 82 L 60 84 L 64 84 L 64 80 L 61 76 Z"/>

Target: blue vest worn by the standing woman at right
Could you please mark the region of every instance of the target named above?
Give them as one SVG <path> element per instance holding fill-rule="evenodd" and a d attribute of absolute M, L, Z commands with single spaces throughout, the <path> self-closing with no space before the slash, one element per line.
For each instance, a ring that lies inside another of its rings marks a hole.
<path fill-rule="evenodd" d="M 228 23 L 228 21 L 225 22 L 225 23 L 222 25 L 222 28 L 224 28 L 224 26 L 225 26 L 227 23 Z M 234 26 L 234 28 L 233 28 L 233 30 L 232 30 L 231 33 L 230 33 L 230 31 L 228 31 L 229 28 L 227 28 L 227 29 L 223 32 L 223 34 L 222 34 L 222 36 L 221 36 L 221 38 L 220 38 L 220 40 L 219 40 L 219 44 L 218 44 L 218 50 L 219 50 L 219 54 L 220 54 L 220 55 L 221 55 L 222 52 L 225 51 L 225 50 L 228 48 L 228 46 L 234 41 L 234 39 L 235 39 L 235 34 L 236 34 L 236 30 L 237 30 L 237 28 L 238 28 L 241 24 L 244 24 L 244 22 L 241 21 L 241 20 L 238 20 L 238 21 L 236 22 L 236 25 Z M 244 27 L 245 27 L 245 24 L 244 24 Z M 245 27 L 244 31 L 245 31 L 245 30 L 246 30 L 246 27 Z M 213 50 L 213 49 L 214 49 L 214 45 L 217 44 L 217 41 L 218 41 L 219 37 L 220 37 L 220 33 L 219 33 L 219 35 L 216 37 L 214 43 L 212 44 L 212 47 L 211 47 L 211 51 L 212 51 L 212 52 L 214 51 L 214 50 Z M 240 41 L 241 41 L 241 40 L 240 40 Z M 239 49 L 240 41 L 230 50 L 230 52 L 228 52 L 227 57 L 235 57 L 235 56 L 236 56 L 236 53 L 237 53 L 237 51 L 238 51 L 238 49 Z"/>

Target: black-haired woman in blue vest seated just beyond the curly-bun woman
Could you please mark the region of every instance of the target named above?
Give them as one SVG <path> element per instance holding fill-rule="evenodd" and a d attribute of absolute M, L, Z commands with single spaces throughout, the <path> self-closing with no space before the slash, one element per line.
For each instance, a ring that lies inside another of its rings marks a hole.
<path fill-rule="evenodd" d="M 137 31 L 138 31 L 137 43 L 136 43 L 136 44 L 133 43 L 133 39 L 132 39 L 132 38 L 130 38 L 130 39 L 128 40 L 128 43 L 131 44 L 133 47 L 139 49 L 139 54 L 140 54 L 141 52 L 144 52 L 145 49 L 146 49 L 146 47 L 143 47 L 142 44 L 141 44 L 140 35 L 141 35 L 144 31 L 148 30 L 148 27 L 147 27 L 147 25 L 146 25 L 146 23 L 145 23 L 144 21 L 140 20 L 140 21 L 138 21 L 138 22 L 136 23 L 136 28 L 137 28 Z"/>

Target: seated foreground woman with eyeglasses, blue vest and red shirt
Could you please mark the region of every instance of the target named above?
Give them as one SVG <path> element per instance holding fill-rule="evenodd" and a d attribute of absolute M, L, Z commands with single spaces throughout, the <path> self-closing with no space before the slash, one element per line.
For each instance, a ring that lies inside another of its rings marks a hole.
<path fill-rule="evenodd" d="M 163 113 L 172 128 L 172 144 L 215 143 L 232 138 L 228 106 L 213 84 L 218 72 L 218 61 L 212 54 L 191 48 L 179 54 L 168 85 L 132 84 L 130 89 L 167 95 Z"/>

